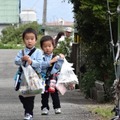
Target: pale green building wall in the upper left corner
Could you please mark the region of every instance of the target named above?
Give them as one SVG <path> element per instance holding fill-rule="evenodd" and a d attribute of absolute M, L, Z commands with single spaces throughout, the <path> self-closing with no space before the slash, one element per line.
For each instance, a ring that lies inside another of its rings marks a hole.
<path fill-rule="evenodd" d="M 0 0 L 0 24 L 19 23 L 20 0 Z"/>

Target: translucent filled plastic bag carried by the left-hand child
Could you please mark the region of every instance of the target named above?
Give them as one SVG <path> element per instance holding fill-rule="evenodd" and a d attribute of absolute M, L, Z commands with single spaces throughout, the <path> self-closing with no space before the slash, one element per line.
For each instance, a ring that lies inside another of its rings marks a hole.
<path fill-rule="evenodd" d="M 38 75 L 35 70 L 28 65 L 22 66 L 23 74 L 19 93 L 24 97 L 34 96 L 44 92 L 44 81 L 41 75 Z"/>

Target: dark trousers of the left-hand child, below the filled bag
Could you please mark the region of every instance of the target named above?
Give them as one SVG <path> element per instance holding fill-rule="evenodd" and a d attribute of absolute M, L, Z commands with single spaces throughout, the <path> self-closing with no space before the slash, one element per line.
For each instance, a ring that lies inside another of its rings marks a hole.
<path fill-rule="evenodd" d="M 25 114 L 29 113 L 29 114 L 33 115 L 35 96 L 23 97 L 23 96 L 19 95 L 19 99 L 20 99 L 21 103 L 23 104 L 23 108 L 25 109 Z"/>

